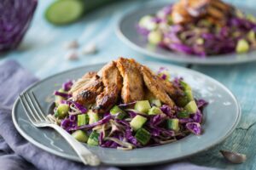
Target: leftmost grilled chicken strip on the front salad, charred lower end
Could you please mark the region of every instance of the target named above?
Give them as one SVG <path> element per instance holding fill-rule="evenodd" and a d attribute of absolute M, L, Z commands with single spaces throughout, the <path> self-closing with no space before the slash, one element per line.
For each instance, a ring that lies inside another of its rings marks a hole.
<path fill-rule="evenodd" d="M 83 78 L 86 82 L 81 83 L 83 86 L 73 92 L 73 99 L 81 105 L 94 104 L 97 95 L 101 94 L 104 88 L 102 78 L 96 74 L 90 75 L 90 73 L 84 75 Z"/>

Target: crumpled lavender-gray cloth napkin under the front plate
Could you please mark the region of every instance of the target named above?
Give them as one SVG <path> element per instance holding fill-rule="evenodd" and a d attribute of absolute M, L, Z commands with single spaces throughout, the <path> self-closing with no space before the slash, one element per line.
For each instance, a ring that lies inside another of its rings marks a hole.
<path fill-rule="evenodd" d="M 79 169 L 148 169 L 149 167 L 88 167 L 75 161 L 68 161 L 54 156 L 29 143 L 17 132 L 11 118 L 11 108 L 19 94 L 32 82 L 38 79 L 13 60 L 0 65 L 0 169 L 47 169 L 47 170 L 79 170 Z M 199 167 L 189 162 L 178 162 L 150 169 L 183 169 L 202 170 L 215 169 Z"/>

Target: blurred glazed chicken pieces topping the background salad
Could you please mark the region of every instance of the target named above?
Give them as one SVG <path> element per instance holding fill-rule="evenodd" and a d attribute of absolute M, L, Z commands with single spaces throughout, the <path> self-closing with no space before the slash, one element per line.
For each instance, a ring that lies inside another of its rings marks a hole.
<path fill-rule="evenodd" d="M 172 21 L 175 24 L 186 24 L 206 18 L 217 25 L 222 25 L 226 16 L 231 13 L 231 6 L 220 0 L 180 0 L 172 8 Z"/>

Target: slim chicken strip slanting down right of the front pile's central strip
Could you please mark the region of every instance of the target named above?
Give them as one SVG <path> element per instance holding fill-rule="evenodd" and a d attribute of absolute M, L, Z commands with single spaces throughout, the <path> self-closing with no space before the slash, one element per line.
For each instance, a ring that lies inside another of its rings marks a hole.
<path fill-rule="evenodd" d="M 141 71 L 143 73 L 143 80 L 149 89 L 149 91 L 154 94 L 154 96 L 157 99 L 160 99 L 161 102 L 163 102 L 166 105 L 170 105 L 173 107 L 175 103 L 172 101 L 172 99 L 169 97 L 169 95 L 166 93 L 164 87 L 165 85 L 160 82 L 159 77 L 154 75 L 148 67 L 142 65 Z"/>

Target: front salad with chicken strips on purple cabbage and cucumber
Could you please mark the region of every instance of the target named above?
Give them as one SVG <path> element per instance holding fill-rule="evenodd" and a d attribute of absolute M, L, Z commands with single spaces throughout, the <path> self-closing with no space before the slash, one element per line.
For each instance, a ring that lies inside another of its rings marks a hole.
<path fill-rule="evenodd" d="M 182 77 L 119 58 L 55 91 L 52 119 L 88 145 L 132 150 L 201 135 L 204 99 Z"/>

